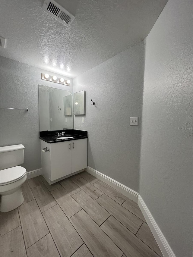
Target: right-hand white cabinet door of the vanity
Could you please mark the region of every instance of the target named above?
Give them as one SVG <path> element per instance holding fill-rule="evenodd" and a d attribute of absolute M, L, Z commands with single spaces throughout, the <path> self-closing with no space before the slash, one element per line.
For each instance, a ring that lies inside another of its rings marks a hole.
<path fill-rule="evenodd" d="M 87 168 L 87 138 L 71 141 L 72 166 L 71 172 Z"/>

